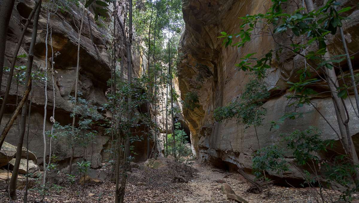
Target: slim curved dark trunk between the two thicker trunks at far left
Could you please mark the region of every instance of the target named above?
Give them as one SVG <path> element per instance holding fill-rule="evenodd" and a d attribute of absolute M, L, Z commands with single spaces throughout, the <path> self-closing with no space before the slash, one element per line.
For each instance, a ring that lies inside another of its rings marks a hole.
<path fill-rule="evenodd" d="M 27 27 L 29 26 L 29 23 L 31 22 L 31 19 L 32 19 L 32 16 L 34 15 L 35 11 L 37 10 L 38 6 L 40 5 L 41 3 L 41 0 L 37 1 L 37 3 L 35 4 L 34 8 L 32 9 L 28 19 L 26 20 L 26 23 L 25 23 L 25 26 L 23 28 L 23 31 L 21 33 L 21 36 L 19 38 L 19 41 L 18 41 L 18 45 L 15 49 L 15 52 L 13 54 L 13 61 L 11 62 L 11 67 L 10 67 L 10 72 L 9 72 L 9 76 L 8 76 L 8 82 L 6 84 L 6 90 L 5 90 L 5 94 L 4 94 L 4 98 L 3 98 L 3 103 L 1 105 L 1 109 L 0 109 L 0 121 L 3 120 L 3 116 L 4 116 L 4 112 L 5 112 L 5 107 L 6 107 L 6 102 L 8 100 L 8 96 L 9 96 L 9 92 L 10 92 L 10 86 L 11 86 L 11 81 L 13 79 L 13 75 L 14 75 L 14 68 L 15 68 L 15 63 L 16 63 L 16 59 L 17 59 L 17 56 L 18 56 L 18 53 L 19 53 L 19 50 L 20 50 L 20 47 L 21 47 L 21 43 L 24 39 L 24 36 L 25 36 L 25 32 L 27 30 Z M 1 84 L 0 84 L 1 85 Z M 0 122 L 1 123 L 1 122 Z M 9 122 L 10 123 L 10 120 Z M 11 123 L 12 125 L 12 123 Z M 8 127 L 11 127 L 8 126 Z M 6 128 L 6 127 L 5 127 Z M 4 128 L 4 129 L 5 129 Z M 6 132 L 6 131 L 3 131 L 3 132 Z M 6 132 L 7 134 L 7 132 Z M 5 137 L 6 137 L 6 134 L 3 134 L 1 133 L 1 138 L 0 138 L 0 148 L 1 146 L 3 146 L 3 143 L 4 143 L 4 140 L 5 140 Z"/>

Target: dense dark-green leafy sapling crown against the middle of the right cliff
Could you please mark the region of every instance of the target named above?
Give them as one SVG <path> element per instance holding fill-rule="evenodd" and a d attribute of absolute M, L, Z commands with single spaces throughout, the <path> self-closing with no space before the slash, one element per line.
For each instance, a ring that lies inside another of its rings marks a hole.
<path fill-rule="evenodd" d="M 262 117 L 267 113 L 267 110 L 262 107 L 262 101 L 268 97 L 269 92 L 263 80 L 250 80 L 239 98 L 227 106 L 214 110 L 214 118 L 216 121 L 228 121 L 236 118 L 237 122 L 245 124 L 246 128 L 261 126 Z"/>

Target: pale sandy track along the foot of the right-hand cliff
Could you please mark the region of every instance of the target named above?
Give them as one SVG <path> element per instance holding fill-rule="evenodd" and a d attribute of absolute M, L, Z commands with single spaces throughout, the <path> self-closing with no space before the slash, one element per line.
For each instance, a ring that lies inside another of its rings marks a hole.
<path fill-rule="evenodd" d="M 314 203 L 313 190 L 309 188 L 286 188 L 271 186 L 272 195 L 266 197 L 266 193 L 253 194 L 246 190 L 250 187 L 247 181 L 239 174 L 228 173 L 210 166 L 194 165 L 199 170 L 198 176 L 188 183 L 190 191 L 183 197 L 183 202 L 189 203 L 229 203 L 235 202 L 228 200 L 220 189 L 223 183 L 217 183 L 215 180 L 223 180 L 228 183 L 237 195 L 250 203 Z M 329 191 L 334 197 L 338 197 L 337 192 Z M 334 198 L 335 199 L 335 198 Z"/>

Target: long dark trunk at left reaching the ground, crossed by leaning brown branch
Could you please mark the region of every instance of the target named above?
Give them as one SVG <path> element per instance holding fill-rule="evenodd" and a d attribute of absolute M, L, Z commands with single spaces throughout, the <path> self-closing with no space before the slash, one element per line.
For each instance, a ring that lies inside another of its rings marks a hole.
<path fill-rule="evenodd" d="M 29 48 L 29 55 L 28 55 L 28 60 L 27 60 L 27 71 L 26 71 L 26 79 L 25 79 L 25 84 L 27 84 L 27 88 L 26 88 L 24 97 L 23 97 L 23 99 L 21 101 L 21 102 L 23 102 L 23 104 L 22 104 L 22 113 L 21 113 L 21 121 L 20 121 L 19 142 L 18 142 L 18 145 L 17 145 L 16 160 L 15 160 L 15 164 L 14 164 L 13 174 L 11 175 L 10 188 L 9 188 L 9 193 L 10 193 L 11 197 L 16 196 L 16 180 L 17 180 L 18 173 L 19 173 L 21 152 L 22 152 L 22 146 L 23 146 L 23 141 L 24 141 L 25 122 L 26 122 L 26 113 L 27 113 L 27 104 L 24 105 L 24 103 L 25 103 L 25 101 L 27 103 L 27 97 L 29 95 L 29 92 L 31 91 L 31 85 L 32 85 L 32 83 L 31 83 L 31 81 L 32 81 L 32 79 L 31 79 L 31 70 L 32 70 L 32 63 L 33 63 L 33 60 L 34 60 L 34 49 L 35 49 L 35 44 L 36 44 L 39 14 L 40 14 L 40 10 L 41 10 L 41 0 L 39 0 L 39 2 L 40 2 L 40 4 L 36 9 L 36 14 L 35 14 L 35 17 L 34 17 L 32 38 L 31 38 L 31 43 L 30 43 L 30 48 Z M 21 104 L 18 107 L 20 107 L 20 106 L 21 106 Z"/>

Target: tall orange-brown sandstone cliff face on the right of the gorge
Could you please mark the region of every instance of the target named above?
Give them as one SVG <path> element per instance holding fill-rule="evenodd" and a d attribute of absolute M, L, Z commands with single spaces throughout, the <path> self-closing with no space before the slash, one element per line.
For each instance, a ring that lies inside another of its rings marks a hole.
<path fill-rule="evenodd" d="M 301 5 L 301 2 L 299 5 Z M 351 1 L 342 1 L 344 6 L 354 6 L 348 14 L 350 19 L 344 23 L 344 33 L 348 37 L 350 53 L 357 57 L 359 47 L 359 10 Z M 315 1 L 320 5 L 322 1 Z M 186 30 L 180 44 L 182 60 L 178 66 L 178 80 L 181 90 L 181 97 L 184 99 L 186 92 L 191 91 L 190 81 L 195 79 L 199 70 L 197 63 L 210 67 L 213 77 L 204 82 L 199 92 L 200 108 L 188 115 L 189 127 L 192 133 L 192 145 L 197 152 L 200 162 L 211 162 L 216 165 L 233 166 L 241 162 L 244 168 L 251 169 L 251 154 L 258 149 L 258 143 L 254 129 L 245 129 L 244 125 L 236 121 L 229 121 L 227 124 L 215 122 L 213 110 L 224 106 L 235 99 L 243 91 L 244 85 L 250 79 L 250 74 L 237 71 L 236 63 L 248 53 L 256 52 L 258 56 L 276 48 L 271 37 L 258 37 L 248 42 L 243 48 L 228 47 L 222 45 L 222 39 L 218 39 L 220 32 L 236 33 L 239 31 L 240 21 L 238 17 L 247 14 L 265 13 L 270 8 L 271 1 L 264 0 L 183 0 L 183 16 L 186 23 Z M 296 9 L 295 4 L 285 8 L 291 13 Z M 257 32 L 256 30 L 255 32 Z M 351 36 L 351 38 L 350 38 Z M 339 37 L 340 38 L 340 37 Z M 330 51 L 339 53 L 341 50 L 338 36 L 330 40 Z M 339 49 L 339 50 L 338 50 Z M 289 93 L 286 86 L 287 81 L 295 81 L 295 67 L 302 67 L 303 63 L 298 58 L 293 58 L 289 52 L 279 56 L 279 60 L 273 59 L 271 69 L 267 72 L 267 88 L 271 93 L 265 101 L 264 107 L 267 115 L 264 117 L 264 125 L 257 127 L 261 147 L 278 143 L 281 133 L 290 133 L 295 129 L 307 129 L 309 126 L 316 126 L 323 131 L 326 139 L 336 139 L 336 134 L 321 118 L 313 107 L 303 107 L 306 112 L 304 118 L 292 121 L 286 120 L 277 131 L 269 131 L 270 121 L 280 118 L 285 112 L 292 112 L 293 109 L 286 104 L 288 100 L 282 95 Z M 354 63 L 355 64 L 355 63 Z M 354 67 L 357 69 L 358 67 Z M 273 89 L 278 85 L 280 89 Z M 320 89 L 321 87 L 316 87 Z M 321 98 L 313 98 L 313 103 L 322 111 L 325 117 L 335 125 L 335 112 L 332 100 L 329 95 Z M 348 105 L 350 106 L 350 105 Z M 351 133 L 355 145 L 358 146 L 359 125 L 358 117 L 354 116 L 353 109 L 349 109 L 353 115 L 350 120 Z M 337 125 L 335 125 L 337 128 Z M 234 152 L 234 153 L 231 153 Z M 234 157 L 236 156 L 236 157 Z M 237 160 L 237 161 L 236 161 Z M 224 167 L 224 166 L 222 166 Z M 297 178 L 300 175 L 293 173 L 285 174 L 288 177 Z"/>

